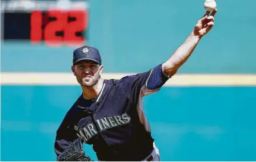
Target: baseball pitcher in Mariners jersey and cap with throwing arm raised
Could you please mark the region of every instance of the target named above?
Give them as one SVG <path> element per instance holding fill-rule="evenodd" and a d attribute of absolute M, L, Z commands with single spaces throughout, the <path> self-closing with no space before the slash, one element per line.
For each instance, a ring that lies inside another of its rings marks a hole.
<path fill-rule="evenodd" d="M 214 26 L 209 11 L 199 19 L 169 60 L 120 80 L 101 77 L 101 55 L 84 45 L 73 52 L 71 70 L 82 94 L 66 113 L 55 140 L 57 161 L 91 161 L 82 143 L 93 145 L 98 161 L 160 161 L 143 109 L 143 97 L 157 93 Z"/>

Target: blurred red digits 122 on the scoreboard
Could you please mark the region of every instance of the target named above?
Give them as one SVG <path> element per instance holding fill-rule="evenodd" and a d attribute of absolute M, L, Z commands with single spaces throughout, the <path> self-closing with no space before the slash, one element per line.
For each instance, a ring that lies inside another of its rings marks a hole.
<path fill-rule="evenodd" d="M 30 38 L 32 43 L 39 43 L 42 40 L 42 33 L 45 43 L 50 46 L 60 46 L 62 43 L 67 45 L 78 45 L 85 43 L 83 36 L 76 36 L 76 32 L 81 32 L 87 28 L 87 11 L 47 11 L 47 15 L 54 17 L 55 21 L 46 24 L 42 32 L 42 11 L 33 11 L 31 13 L 31 31 Z M 75 21 L 68 22 L 68 17 L 75 18 Z M 63 36 L 57 36 L 55 33 L 64 31 Z"/>

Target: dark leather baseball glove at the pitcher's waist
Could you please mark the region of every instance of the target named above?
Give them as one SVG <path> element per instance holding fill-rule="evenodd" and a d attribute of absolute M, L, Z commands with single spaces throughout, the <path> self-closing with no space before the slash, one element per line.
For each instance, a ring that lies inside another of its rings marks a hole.
<path fill-rule="evenodd" d="M 89 156 L 85 156 L 81 139 L 78 137 L 70 144 L 65 151 L 57 157 L 57 161 L 93 161 Z"/>

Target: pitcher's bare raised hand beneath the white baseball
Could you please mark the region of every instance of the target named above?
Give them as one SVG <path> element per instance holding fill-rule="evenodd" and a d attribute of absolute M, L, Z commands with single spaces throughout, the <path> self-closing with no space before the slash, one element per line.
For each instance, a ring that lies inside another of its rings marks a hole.
<path fill-rule="evenodd" d="M 206 11 L 206 14 L 203 15 L 203 18 L 198 20 L 197 24 L 195 25 L 193 34 L 195 36 L 199 36 L 199 38 L 202 38 L 202 36 L 207 34 L 207 32 L 209 32 L 214 26 L 214 15 L 216 13 L 217 9 L 215 9 L 211 14 L 210 11 Z"/>

